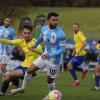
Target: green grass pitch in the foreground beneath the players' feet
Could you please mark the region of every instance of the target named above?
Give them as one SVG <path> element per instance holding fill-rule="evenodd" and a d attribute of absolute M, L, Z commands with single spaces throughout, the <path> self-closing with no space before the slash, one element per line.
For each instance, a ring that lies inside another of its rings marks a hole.
<path fill-rule="evenodd" d="M 86 79 L 81 79 L 81 73 L 78 72 L 81 84 L 79 87 L 72 87 L 72 77 L 69 72 L 60 73 L 56 79 L 57 89 L 62 93 L 62 100 L 99 100 L 100 91 L 92 91 L 94 84 L 92 78 L 93 73 L 90 72 Z M 0 97 L 0 100 L 41 100 L 48 93 L 46 83 L 46 74 L 40 73 L 34 77 L 23 94 L 14 96 Z"/>

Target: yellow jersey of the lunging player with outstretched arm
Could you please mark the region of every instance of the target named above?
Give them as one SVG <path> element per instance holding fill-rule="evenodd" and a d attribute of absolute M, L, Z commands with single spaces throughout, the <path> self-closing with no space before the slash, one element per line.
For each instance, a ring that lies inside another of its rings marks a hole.
<path fill-rule="evenodd" d="M 36 58 L 41 53 L 43 53 L 42 47 L 40 45 L 37 48 L 35 48 L 34 51 L 28 50 L 30 46 L 34 45 L 35 41 L 36 41 L 35 38 L 33 38 L 29 42 L 26 42 L 24 38 L 20 38 L 16 40 L 0 39 L 0 43 L 16 45 L 22 49 L 22 51 L 25 53 L 25 60 L 21 63 L 21 66 L 23 67 L 30 67 L 32 62 L 35 61 Z"/>

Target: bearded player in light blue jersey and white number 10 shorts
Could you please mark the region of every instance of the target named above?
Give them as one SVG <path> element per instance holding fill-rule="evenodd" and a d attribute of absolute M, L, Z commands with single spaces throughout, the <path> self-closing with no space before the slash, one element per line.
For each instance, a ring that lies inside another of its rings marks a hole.
<path fill-rule="evenodd" d="M 12 90 L 11 92 L 17 93 L 24 91 L 28 85 L 28 80 L 30 79 L 31 74 L 44 68 L 47 68 L 46 71 L 49 90 L 52 91 L 55 89 L 54 79 L 59 73 L 61 54 L 65 49 L 65 33 L 58 26 L 58 16 L 59 15 L 54 12 L 48 14 L 48 25 L 42 27 L 41 34 L 35 45 L 30 47 L 30 50 L 34 50 L 34 48 L 36 48 L 42 41 L 45 41 L 45 51 L 28 68 L 22 87 Z M 45 99 L 48 99 L 48 95 L 44 98 L 44 100 Z"/>

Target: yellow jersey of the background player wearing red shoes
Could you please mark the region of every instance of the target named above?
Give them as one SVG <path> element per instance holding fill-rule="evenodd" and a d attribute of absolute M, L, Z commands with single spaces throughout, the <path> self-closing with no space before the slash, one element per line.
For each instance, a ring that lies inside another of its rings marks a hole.
<path fill-rule="evenodd" d="M 81 31 L 74 33 L 74 41 L 75 41 L 75 50 L 79 52 L 83 43 L 86 41 L 86 37 L 83 35 Z M 85 50 L 82 50 L 79 54 L 75 54 L 75 56 L 84 56 L 86 54 Z"/>

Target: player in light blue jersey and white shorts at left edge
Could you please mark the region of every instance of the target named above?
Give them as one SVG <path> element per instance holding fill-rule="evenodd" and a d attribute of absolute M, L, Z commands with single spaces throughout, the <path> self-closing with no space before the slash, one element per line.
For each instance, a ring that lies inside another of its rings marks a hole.
<path fill-rule="evenodd" d="M 0 26 L 0 38 L 13 40 L 16 37 L 15 30 L 11 27 L 11 19 L 5 18 L 4 25 Z M 13 46 L 0 44 L 0 75 L 6 72 L 6 65 L 10 60 L 10 53 Z"/>

